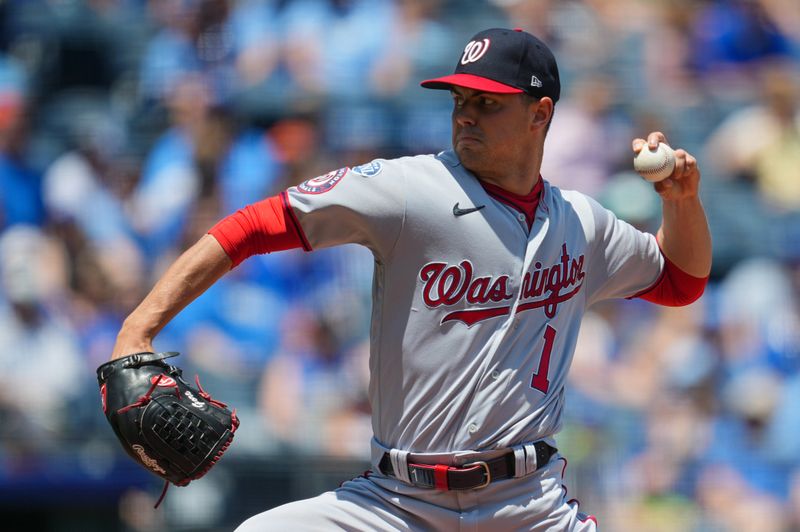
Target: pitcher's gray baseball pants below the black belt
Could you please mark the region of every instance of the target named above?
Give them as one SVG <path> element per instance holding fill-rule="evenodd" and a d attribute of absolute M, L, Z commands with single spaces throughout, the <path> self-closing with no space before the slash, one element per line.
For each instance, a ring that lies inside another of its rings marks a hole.
<path fill-rule="evenodd" d="M 417 488 L 369 473 L 334 491 L 257 514 L 236 532 L 595 532 L 594 517 L 567 500 L 565 465 L 563 458 L 554 458 L 528 476 L 464 491 Z"/>

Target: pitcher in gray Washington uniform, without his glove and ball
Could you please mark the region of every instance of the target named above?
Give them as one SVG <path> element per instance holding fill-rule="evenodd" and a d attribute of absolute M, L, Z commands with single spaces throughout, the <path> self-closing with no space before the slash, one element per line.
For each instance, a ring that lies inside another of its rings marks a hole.
<path fill-rule="evenodd" d="M 521 30 L 475 35 L 455 73 L 453 149 L 341 168 L 244 207 L 186 251 L 126 319 L 112 354 L 153 337 L 256 253 L 359 243 L 375 258 L 373 469 L 245 521 L 263 530 L 595 530 L 556 448 L 581 317 L 609 298 L 682 305 L 711 242 L 696 160 L 676 151 L 657 236 L 539 174 L 560 94 Z M 633 151 L 666 142 L 635 139 Z"/>

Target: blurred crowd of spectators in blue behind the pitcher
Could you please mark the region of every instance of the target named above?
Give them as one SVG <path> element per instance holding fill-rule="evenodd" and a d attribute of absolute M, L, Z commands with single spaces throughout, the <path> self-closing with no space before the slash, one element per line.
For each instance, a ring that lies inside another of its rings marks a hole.
<path fill-rule="evenodd" d="M 703 171 L 703 298 L 587 314 L 571 488 L 607 530 L 800 530 L 797 0 L 0 1 L 0 486 L 113 475 L 95 368 L 164 268 L 247 203 L 449 147 L 418 82 L 491 26 L 558 58 L 545 179 L 654 231 L 631 139 Z M 254 257 L 160 334 L 238 408 L 231 455 L 367 457 L 371 273 L 352 246 Z"/>

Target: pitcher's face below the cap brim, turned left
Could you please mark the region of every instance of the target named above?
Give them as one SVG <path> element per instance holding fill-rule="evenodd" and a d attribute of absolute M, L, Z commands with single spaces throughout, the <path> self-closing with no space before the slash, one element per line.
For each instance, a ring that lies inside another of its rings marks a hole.
<path fill-rule="evenodd" d="M 531 106 L 519 94 L 453 87 L 453 149 L 476 176 L 502 183 L 533 159 Z"/>

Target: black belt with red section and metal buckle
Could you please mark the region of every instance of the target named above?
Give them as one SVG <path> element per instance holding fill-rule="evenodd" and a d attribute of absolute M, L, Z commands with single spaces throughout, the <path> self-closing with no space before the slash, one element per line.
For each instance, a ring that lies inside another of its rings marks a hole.
<path fill-rule="evenodd" d="M 536 468 L 544 466 L 558 449 L 537 441 L 533 444 L 536 450 Z M 516 473 L 516 459 L 514 451 L 509 450 L 502 456 L 486 461 L 475 461 L 461 467 L 444 464 L 408 464 L 408 477 L 411 484 L 421 488 L 436 488 L 439 490 L 469 490 L 484 488 L 495 480 L 513 478 Z M 395 477 L 394 466 L 389 453 L 383 453 L 378 469 L 384 475 Z"/>

